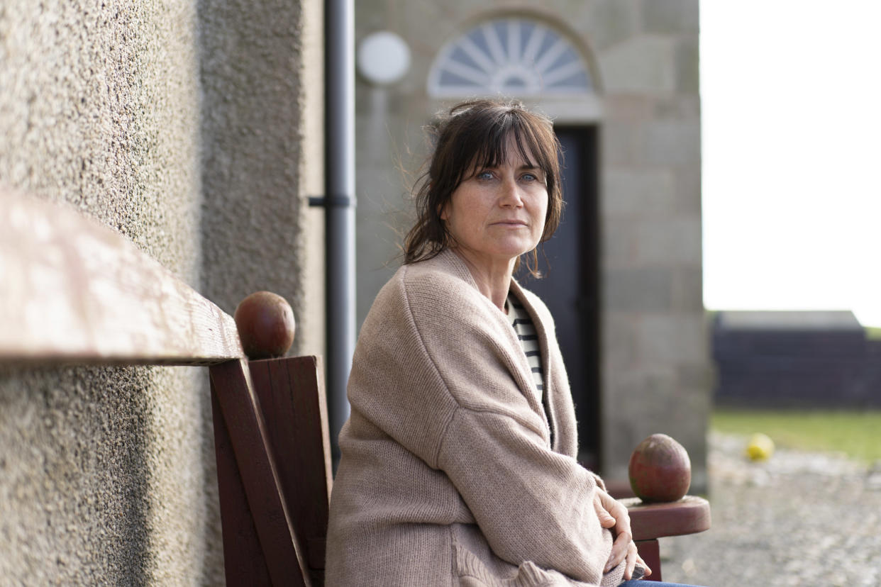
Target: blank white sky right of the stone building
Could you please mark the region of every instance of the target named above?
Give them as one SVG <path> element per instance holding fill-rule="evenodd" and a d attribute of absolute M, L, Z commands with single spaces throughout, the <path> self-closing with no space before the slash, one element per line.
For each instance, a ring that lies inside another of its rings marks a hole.
<path fill-rule="evenodd" d="M 881 327 L 881 1 L 700 12 L 704 304 Z"/>

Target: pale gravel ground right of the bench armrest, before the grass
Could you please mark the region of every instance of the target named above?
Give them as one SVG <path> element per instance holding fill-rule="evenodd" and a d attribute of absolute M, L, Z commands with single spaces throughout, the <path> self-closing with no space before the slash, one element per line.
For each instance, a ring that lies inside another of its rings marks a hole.
<path fill-rule="evenodd" d="M 778 449 L 751 463 L 745 445 L 745 437 L 710 437 L 713 527 L 661 539 L 663 579 L 881 586 L 881 462 Z"/>

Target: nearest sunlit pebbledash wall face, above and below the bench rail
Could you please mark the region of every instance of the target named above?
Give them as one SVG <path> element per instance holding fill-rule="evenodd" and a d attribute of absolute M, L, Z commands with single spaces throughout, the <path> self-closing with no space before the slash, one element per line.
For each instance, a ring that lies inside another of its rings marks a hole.
<path fill-rule="evenodd" d="M 189 2 L 0 6 L 0 182 L 194 285 L 196 28 Z M 210 417 L 196 368 L 0 371 L 0 583 L 217 581 Z"/>

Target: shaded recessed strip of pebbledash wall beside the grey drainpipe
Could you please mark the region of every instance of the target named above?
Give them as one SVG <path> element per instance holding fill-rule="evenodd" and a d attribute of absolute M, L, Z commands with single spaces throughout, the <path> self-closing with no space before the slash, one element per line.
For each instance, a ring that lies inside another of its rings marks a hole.
<path fill-rule="evenodd" d="M 322 154 L 303 148 L 308 88 L 300 4 L 204 0 L 199 18 L 204 295 L 232 313 L 249 293 L 274 291 L 300 321 L 292 354 L 321 352 L 302 328 L 309 195 L 303 169 L 308 161 L 320 165 Z"/>

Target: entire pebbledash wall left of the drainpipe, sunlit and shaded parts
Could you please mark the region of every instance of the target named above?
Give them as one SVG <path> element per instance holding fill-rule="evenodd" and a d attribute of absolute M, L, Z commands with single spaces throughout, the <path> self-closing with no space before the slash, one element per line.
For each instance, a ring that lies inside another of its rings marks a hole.
<path fill-rule="evenodd" d="M 0 182 L 226 312 L 278 292 L 322 353 L 321 10 L 4 2 Z M 204 369 L 0 368 L 0 583 L 223 583 L 213 459 Z"/>

